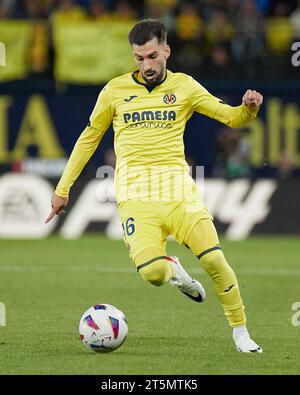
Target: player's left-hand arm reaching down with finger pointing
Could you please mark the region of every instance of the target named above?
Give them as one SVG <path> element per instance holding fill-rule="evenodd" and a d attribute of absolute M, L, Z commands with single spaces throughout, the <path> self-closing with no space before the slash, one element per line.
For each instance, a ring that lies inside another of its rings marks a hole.
<path fill-rule="evenodd" d="M 57 184 L 51 200 L 52 210 L 45 221 L 46 223 L 55 215 L 64 213 L 64 208 L 68 204 L 70 188 L 98 147 L 104 133 L 112 122 L 113 116 L 112 98 L 106 86 L 101 91 L 90 117 L 89 125 L 78 138 L 61 179 Z"/>

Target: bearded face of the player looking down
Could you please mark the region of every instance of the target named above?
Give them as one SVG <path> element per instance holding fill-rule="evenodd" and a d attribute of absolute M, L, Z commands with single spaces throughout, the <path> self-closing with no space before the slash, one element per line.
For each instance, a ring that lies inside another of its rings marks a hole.
<path fill-rule="evenodd" d="M 140 73 L 147 84 L 156 84 L 164 78 L 167 59 L 171 53 L 169 45 L 159 43 L 154 37 L 144 45 L 133 44 L 132 51 Z"/>

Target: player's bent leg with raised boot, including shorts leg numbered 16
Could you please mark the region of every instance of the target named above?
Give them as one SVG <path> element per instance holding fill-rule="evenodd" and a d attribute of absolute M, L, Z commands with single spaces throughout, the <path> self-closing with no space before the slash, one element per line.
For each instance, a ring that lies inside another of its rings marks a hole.
<path fill-rule="evenodd" d="M 205 299 L 202 285 L 193 280 L 179 260 L 166 253 L 167 232 L 161 222 L 158 203 L 131 200 L 119 204 L 124 241 L 141 277 L 160 286 L 175 285 L 196 302 Z"/>

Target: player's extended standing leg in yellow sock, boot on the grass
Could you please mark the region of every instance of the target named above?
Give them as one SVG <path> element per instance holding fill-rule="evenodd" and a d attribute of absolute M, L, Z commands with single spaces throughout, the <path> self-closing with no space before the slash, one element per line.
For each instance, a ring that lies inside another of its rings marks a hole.
<path fill-rule="evenodd" d="M 233 339 L 238 351 L 262 352 L 247 331 L 237 278 L 221 251 L 212 220 L 208 218 L 199 220 L 189 232 L 185 243 L 199 258 L 213 281 L 229 325 L 233 328 Z"/>

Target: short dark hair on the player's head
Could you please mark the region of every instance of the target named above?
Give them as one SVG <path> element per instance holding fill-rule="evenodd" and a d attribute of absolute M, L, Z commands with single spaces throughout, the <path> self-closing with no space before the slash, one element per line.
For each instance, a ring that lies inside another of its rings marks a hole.
<path fill-rule="evenodd" d="M 131 45 L 144 45 L 154 37 L 157 38 L 159 43 L 167 43 L 166 26 L 157 19 L 145 19 L 138 22 L 128 35 Z"/>

